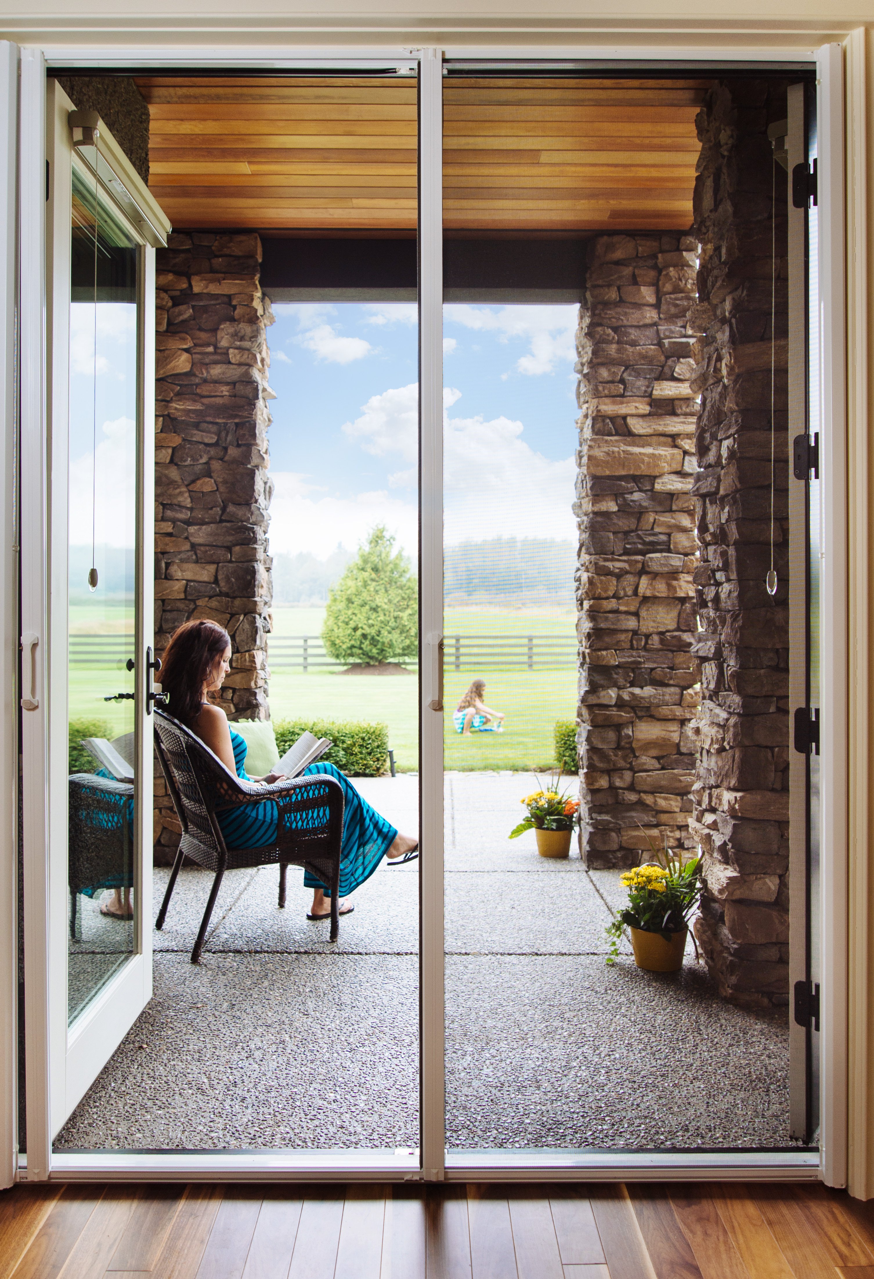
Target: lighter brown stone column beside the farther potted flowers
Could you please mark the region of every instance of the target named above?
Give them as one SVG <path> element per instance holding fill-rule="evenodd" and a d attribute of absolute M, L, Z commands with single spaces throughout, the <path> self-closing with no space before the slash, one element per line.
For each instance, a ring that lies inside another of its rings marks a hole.
<path fill-rule="evenodd" d="M 580 308 L 578 747 L 581 852 L 636 866 L 689 843 L 698 565 L 689 385 L 698 243 L 598 235 Z"/>

